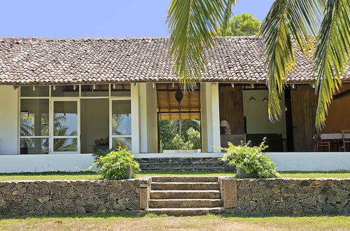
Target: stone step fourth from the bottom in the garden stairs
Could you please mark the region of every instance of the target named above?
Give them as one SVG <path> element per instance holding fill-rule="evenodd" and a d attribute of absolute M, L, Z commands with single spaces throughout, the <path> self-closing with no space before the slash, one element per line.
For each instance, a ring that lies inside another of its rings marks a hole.
<path fill-rule="evenodd" d="M 219 190 L 218 182 L 153 182 L 153 190 Z"/>

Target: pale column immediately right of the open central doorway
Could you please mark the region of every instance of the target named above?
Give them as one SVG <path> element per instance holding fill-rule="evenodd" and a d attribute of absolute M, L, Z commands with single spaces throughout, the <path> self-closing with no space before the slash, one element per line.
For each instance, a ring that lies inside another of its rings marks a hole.
<path fill-rule="evenodd" d="M 202 152 L 220 152 L 217 148 L 213 148 L 213 146 L 221 146 L 218 84 L 202 83 L 200 97 Z"/>

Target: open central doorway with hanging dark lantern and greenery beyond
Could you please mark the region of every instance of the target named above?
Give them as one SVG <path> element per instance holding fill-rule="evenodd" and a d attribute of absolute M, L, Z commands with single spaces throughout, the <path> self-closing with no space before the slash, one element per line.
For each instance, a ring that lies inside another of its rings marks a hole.
<path fill-rule="evenodd" d="M 200 85 L 182 92 L 177 84 L 157 84 L 157 102 L 159 152 L 200 153 Z"/>

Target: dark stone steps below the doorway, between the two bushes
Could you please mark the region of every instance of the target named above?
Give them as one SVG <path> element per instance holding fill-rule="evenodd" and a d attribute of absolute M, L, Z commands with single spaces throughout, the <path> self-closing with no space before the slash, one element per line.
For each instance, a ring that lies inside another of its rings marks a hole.
<path fill-rule="evenodd" d="M 142 170 L 151 171 L 223 171 L 225 163 L 218 158 L 142 158 L 136 159 Z"/>

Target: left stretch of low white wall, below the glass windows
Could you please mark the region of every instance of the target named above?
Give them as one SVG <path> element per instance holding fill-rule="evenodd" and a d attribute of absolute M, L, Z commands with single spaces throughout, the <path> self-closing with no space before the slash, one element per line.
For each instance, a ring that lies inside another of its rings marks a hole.
<path fill-rule="evenodd" d="M 0 155 L 0 173 L 79 172 L 93 162 L 91 154 Z"/>

